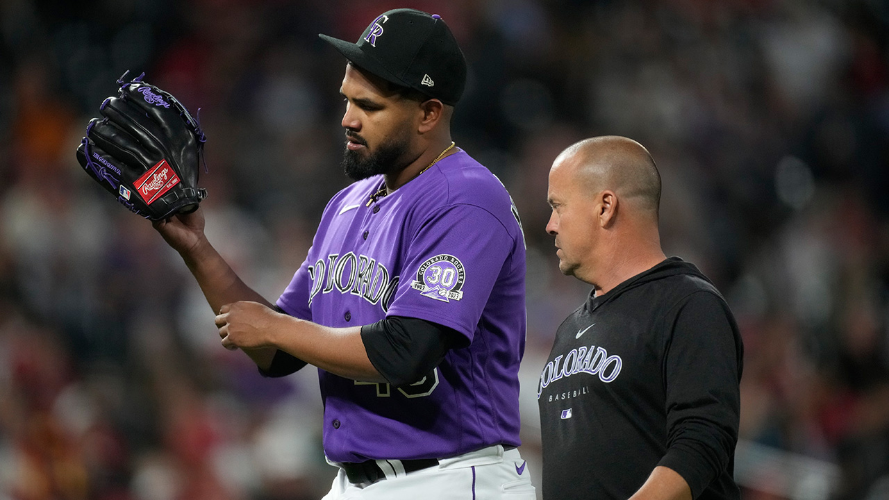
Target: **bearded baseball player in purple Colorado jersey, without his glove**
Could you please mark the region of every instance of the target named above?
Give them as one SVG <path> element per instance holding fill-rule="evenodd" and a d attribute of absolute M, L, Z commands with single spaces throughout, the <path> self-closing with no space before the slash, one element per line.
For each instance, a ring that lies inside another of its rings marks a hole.
<path fill-rule="evenodd" d="M 500 181 L 455 145 L 466 62 L 445 21 L 380 14 L 348 64 L 343 165 L 308 257 L 276 304 L 204 237 L 201 211 L 156 222 L 222 344 L 268 376 L 318 367 L 325 499 L 533 499 L 519 446 L 525 242 Z"/>

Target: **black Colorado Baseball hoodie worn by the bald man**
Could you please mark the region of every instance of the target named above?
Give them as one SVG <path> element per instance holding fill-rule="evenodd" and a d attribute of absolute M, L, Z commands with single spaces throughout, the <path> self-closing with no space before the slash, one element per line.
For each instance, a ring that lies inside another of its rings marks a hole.
<path fill-rule="evenodd" d="M 628 498 L 657 465 L 693 498 L 733 480 L 741 335 L 716 286 L 671 257 L 558 328 L 541 372 L 543 499 Z"/>

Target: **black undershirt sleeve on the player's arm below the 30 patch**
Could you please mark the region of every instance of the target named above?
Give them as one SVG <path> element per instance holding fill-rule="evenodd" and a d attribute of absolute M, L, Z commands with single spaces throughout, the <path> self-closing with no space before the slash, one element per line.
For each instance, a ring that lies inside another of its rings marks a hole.
<path fill-rule="evenodd" d="M 389 316 L 361 327 L 367 358 L 380 375 L 395 387 L 415 383 L 468 339 L 453 328 L 425 319 Z"/>

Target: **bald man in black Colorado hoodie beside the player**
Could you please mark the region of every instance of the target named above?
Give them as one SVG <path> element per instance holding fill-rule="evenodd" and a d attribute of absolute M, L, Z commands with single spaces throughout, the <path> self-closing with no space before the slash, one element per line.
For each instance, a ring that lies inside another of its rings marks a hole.
<path fill-rule="evenodd" d="M 577 142 L 548 197 L 559 270 L 592 291 L 541 372 L 543 499 L 739 498 L 741 335 L 713 283 L 661 250 L 653 158 Z"/>

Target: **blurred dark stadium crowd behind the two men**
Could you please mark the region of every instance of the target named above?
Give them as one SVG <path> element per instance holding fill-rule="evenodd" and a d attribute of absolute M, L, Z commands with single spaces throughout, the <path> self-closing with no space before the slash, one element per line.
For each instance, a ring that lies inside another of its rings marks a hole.
<path fill-rule="evenodd" d="M 315 370 L 263 379 L 221 348 L 178 255 L 74 150 L 124 70 L 200 108 L 208 235 L 274 300 L 348 183 L 345 60 L 316 35 L 398 6 L 453 28 L 454 137 L 523 217 L 533 473 L 538 375 L 589 291 L 558 273 L 547 173 L 621 134 L 661 169 L 667 254 L 741 325 L 743 497 L 889 498 L 885 1 L 3 0 L 0 500 L 323 496 Z"/>

